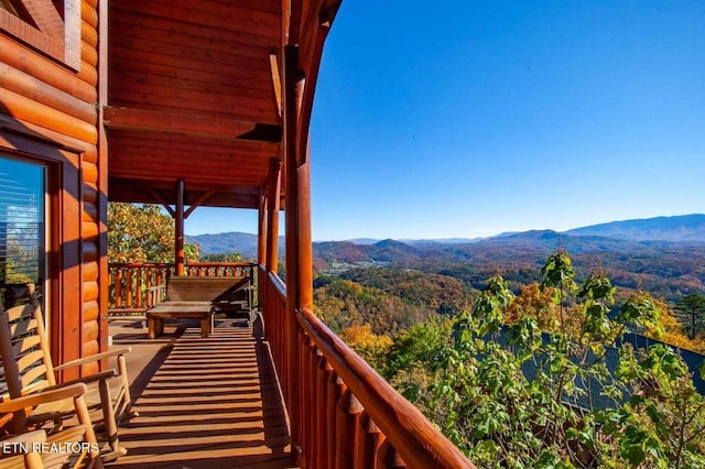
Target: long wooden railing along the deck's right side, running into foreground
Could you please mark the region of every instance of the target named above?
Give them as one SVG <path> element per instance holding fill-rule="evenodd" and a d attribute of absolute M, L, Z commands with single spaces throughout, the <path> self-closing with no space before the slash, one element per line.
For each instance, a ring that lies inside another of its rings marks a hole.
<path fill-rule="evenodd" d="M 302 467 L 475 467 L 312 312 L 296 312 L 296 330 L 288 332 L 286 287 L 275 274 L 260 268 L 259 285 L 283 394 L 299 396 L 288 408 Z"/>

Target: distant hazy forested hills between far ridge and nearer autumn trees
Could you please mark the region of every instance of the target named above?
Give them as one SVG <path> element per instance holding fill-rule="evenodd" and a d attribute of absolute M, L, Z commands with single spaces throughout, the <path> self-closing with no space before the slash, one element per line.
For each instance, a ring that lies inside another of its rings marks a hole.
<path fill-rule="evenodd" d="M 669 302 L 705 292 L 705 243 L 632 242 L 600 237 L 571 237 L 531 231 L 468 244 L 412 247 L 400 242 L 360 246 L 349 242 L 314 247 L 318 272 L 336 273 L 352 266 L 416 270 L 462 280 L 481 288 L 501 274 L 517 291 L 536 282 L 540 266 L 556 248 L 575 259 L 578 279 L 604 270 L 621 288 L 644 288 Z M 339 249 L 338 249 L 339 248 Z"/>

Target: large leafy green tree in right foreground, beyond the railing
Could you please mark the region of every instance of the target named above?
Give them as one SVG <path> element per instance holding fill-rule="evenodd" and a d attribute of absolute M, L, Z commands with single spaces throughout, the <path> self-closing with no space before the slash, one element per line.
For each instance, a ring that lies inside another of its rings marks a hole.
<path fill-rule="evenodd" d="M 705 400 L 687 367 L 668 346 L 617 347 L 630 326 L 658 334 L 655 304 L 636 294 L 612 313 L 609 279 L 576 284 L 564 251 L 542 273 L 560 324 L 545 334 L 525 314 L 507 326 L 514 295 L 491 279 L 453 320 L 420 407 L 480 467 L 705 467 Z"/>

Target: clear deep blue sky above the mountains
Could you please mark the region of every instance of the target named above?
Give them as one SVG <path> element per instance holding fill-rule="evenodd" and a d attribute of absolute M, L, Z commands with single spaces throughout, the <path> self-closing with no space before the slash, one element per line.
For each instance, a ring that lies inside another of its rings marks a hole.
<path fill-rule="evenodd" d="M 705 212 L 703 51 L 702 0 L 344 1 L 311 127 L 313 237 Z M 254 212 L 186 220 L 256 230 Z"/>

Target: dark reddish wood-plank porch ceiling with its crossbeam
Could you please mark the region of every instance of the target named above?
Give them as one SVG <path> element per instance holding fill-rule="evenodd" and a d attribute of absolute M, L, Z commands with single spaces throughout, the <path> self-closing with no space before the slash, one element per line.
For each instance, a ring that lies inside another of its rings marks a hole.
<path fill-rule="evenodd" d="M 339 0 L 291 3 L 282 14 L 281 0 L 109 2 L 110 200 L 175 204 L 183 179 L 186 205 L 259 206 L 282 141 L 283 44 L 292 31 L 303 44 L 310 116 L 321 28 Z"/>

